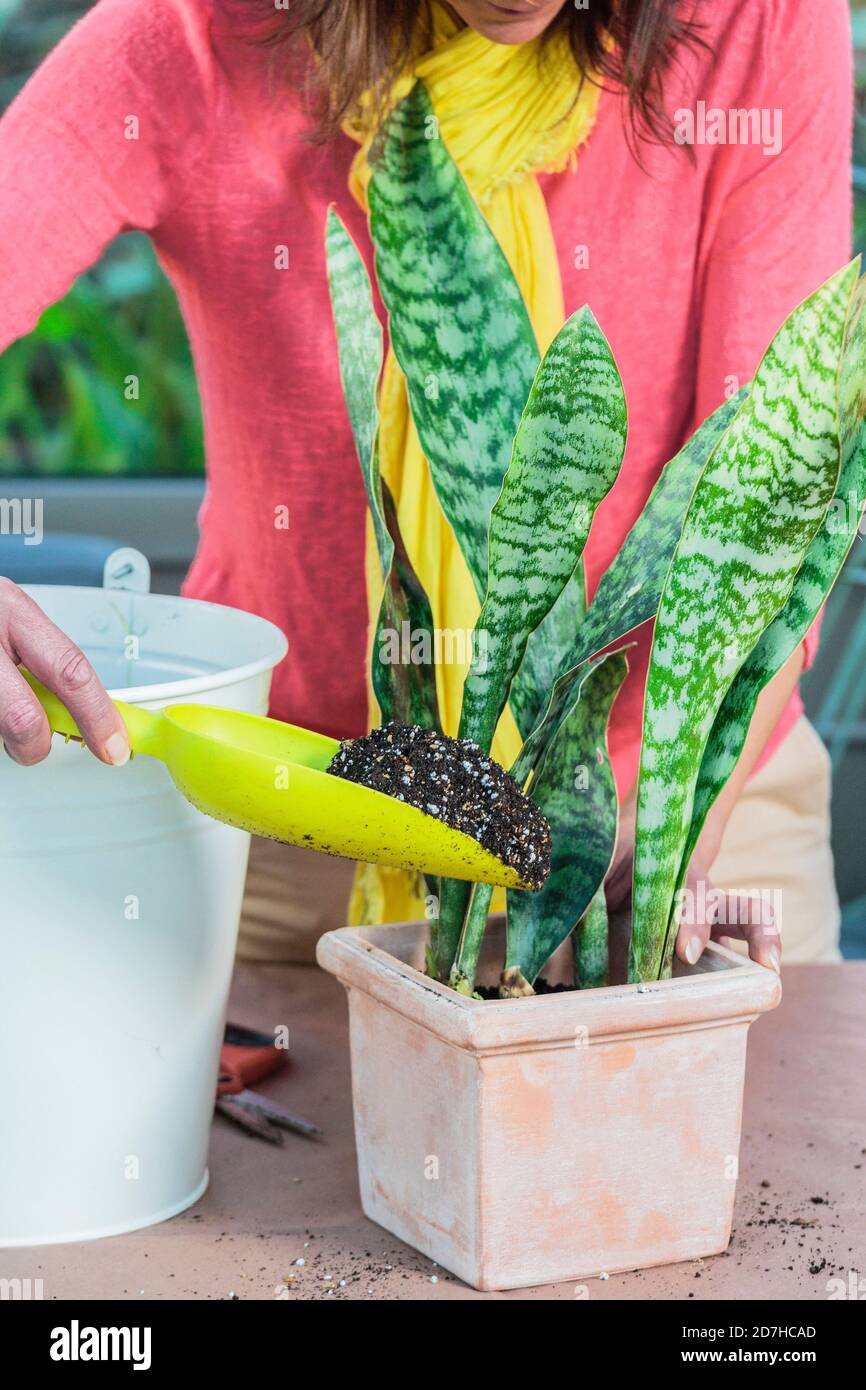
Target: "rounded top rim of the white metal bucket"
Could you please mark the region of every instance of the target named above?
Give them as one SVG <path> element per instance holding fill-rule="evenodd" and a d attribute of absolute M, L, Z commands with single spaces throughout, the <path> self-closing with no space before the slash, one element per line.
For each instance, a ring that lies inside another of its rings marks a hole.
<path fill-rule="evenodd" d="M 271 623 L 270 619 L 261 617 L 259 613 L 249 613 L 246 609 L 234 607 L 231 603 L 210 603 L 207 599 L 188 599 L 182 594 L 133 594 L 128 589 L 106 589 L 83 584 L 22 584 L 21 588 L 36 603 L 39 602 L 40 595 L 44 594 L 81 595 L 82 598 L 89 596 L 93 599 L 118 598 L 122 594 L 129 594 L 129 596 L 138 602 L 157 599 L 164 603 L 182 603 L 185 607 L 192 609 L 209 609 L 210 612 L 220 610 L 221 613 L 234 614 L 250 627 L 259 628 L 263 638 L 270 635 L 272 639 L 271 651 L 257 656 L 252 662 L 243 662 L 240 666 L 227 667 L 222 671 L 207 671 L 206 674 L 190 676 L 186 680 L 179 681 L 152 681 L 147 685 L 108 687 L 108 695 L 111 699 L 122 699 L 126 705 L 177 705 L 182 703 L 182 701 L 190 695 L 206 695 L 210 691 L 225 689 L 227 685 L 235 685 L 239 681 L 249 680 L 250 677 L 272 671 L 289 651 L 289 639 L 282 628 L 277 627 L 275 623 Z"/>

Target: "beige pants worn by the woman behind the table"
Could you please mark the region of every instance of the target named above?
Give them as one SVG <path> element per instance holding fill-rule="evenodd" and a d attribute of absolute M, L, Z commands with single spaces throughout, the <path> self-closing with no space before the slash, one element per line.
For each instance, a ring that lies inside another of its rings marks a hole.
<path fill-rule="evenodd" d="M 346 923 L 353 870 L 345 859 L 253 840 L 239 958 L 311 963 L 320 935 Z M 799 720 L 748 783 L 712 881 L 773 895 L 781 909 L 784 960 L 840 959 L 830 759 L 808 720 Z"/>

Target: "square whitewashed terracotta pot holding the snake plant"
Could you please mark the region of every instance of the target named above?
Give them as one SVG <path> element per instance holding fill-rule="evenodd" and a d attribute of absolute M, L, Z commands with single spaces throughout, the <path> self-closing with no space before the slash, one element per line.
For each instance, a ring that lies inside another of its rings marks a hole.
<path fill-rule="evenodd" d="M 657 984 L 482 1002 L 423 974 L 427 940 L 409 923 L 318 942 L 349 994 L 367 1216 L 475 1289 L 724 1250 L 746 1030 L 777 976 L 713 945 Z"/>

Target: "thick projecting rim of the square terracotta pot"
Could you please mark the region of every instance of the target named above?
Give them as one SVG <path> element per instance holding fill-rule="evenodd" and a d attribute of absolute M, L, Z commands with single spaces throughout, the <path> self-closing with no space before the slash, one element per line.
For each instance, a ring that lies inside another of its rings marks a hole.
<path fill-rule="evenodd" d="M 491 917 L 500 922 L 502 915 Z M 681 966 L 670 980 L 471 999 L 379 945 L 381 934 L 399 933 L 395 945 L 417 948 L 427 930 L 427 922 L 341 927 L 320 938 L 317 959 L 346 990 L 370 995 L 457 1048 L 482 1054 L 751 1023 L 781 998 L 773 970 L 710 942 L 698 965 Z"/>

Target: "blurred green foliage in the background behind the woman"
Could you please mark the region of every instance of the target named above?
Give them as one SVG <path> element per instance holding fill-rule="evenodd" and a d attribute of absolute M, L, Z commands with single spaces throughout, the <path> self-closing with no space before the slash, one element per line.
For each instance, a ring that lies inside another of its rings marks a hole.
<path fill-rule="evenodd" d="M 90 0 L 0 0 L 0 110 L 89 7 Z M 851 10 L 853 236 L 866 250 L 866 0 L 851 0 Z M 139 400 L 124 396 L 131 374 L 140 381 Z M 0 477 L 202 470 L 199 395 L 174 292 L 147 239 L 121 236 L 35 332 L 3 354 Z"/>

